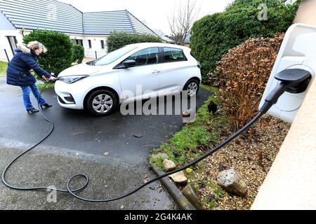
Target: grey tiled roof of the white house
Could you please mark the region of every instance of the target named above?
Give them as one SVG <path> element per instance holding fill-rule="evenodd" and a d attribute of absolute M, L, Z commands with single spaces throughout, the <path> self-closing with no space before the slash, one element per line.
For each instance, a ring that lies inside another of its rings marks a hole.
<path fill-rule="evenodd" d="M 0 0 L 0 10 L 17 29 L 50 29 L 70 34 L 108 35 L 111 31 L 153 34 L 128 10 L 81 13 L 55 0 Z"/>

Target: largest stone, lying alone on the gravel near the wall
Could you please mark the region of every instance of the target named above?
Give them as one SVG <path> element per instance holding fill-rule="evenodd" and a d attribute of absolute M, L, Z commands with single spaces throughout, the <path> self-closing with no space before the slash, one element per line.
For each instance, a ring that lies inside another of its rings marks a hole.
<path fill-rule="evenodd" d="M 234 169 L 220 172 L 217 176 L 216 182 L 229 193 L 242 197 L 247 195 L 248 187 L 242 179 L 242 176 L 240 176 L 240 174 L 238 174 Z"/>

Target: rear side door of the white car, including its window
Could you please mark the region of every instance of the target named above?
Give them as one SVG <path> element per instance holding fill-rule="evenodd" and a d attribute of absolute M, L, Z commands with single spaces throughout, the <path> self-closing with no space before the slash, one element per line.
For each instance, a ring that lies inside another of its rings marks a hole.
<path fill-rule="evenodd" d="M 187 58 L 180 48 L 162 48 L 161 91 L 164 93 L 183 90 L 187 82 Z"/>

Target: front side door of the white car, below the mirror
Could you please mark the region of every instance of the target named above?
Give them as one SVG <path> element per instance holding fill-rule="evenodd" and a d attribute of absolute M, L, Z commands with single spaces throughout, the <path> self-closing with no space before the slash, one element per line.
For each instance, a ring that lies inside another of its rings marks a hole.
<path fill-rule="evenodd" d="M 153 94 L 144 93 L 159 90 L 161 71 L 159 48 L 145 48 L 124 59 L 123 62 L 127 60 L 136 61 L 136 66 L 119 69 L 122 92 L 132 92 L 134 97 L 151 97 Z"/>

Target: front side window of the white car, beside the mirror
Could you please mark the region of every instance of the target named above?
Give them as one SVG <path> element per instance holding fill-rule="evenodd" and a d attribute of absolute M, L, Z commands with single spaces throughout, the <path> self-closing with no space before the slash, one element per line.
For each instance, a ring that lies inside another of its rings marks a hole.
<path fill-rule="evenodd" d="M 159 61 L 159 48 L 146 48 L 131 55 L 127 60 L 136 61 L 136 66 L 144 66 L 149 64 L 158 64 Z"/>

